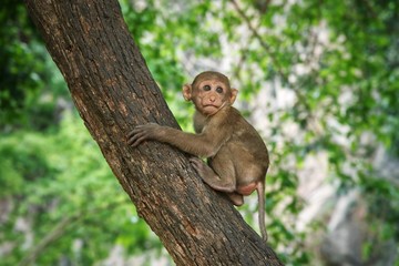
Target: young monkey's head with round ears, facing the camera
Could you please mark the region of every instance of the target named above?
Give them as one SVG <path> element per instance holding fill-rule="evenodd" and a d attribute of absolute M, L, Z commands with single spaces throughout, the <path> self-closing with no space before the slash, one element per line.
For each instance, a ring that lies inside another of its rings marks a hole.
<path fill-rule="evenodd" d="M 214 115 L 223 106 L 232 105 L 237 96 L 227 76 L 215 71 L 202 72 L 192 84 L 183 86 L 183 96 L 193 101 L 196 110 L 204 115 Z"/>

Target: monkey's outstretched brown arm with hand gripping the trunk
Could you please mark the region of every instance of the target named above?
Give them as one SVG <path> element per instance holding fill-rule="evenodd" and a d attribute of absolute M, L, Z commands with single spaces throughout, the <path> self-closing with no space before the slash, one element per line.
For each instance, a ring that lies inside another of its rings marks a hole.
<path fill-rule="evenodd" d="M 192 134 L 154 123 L 136 126 L 129 133 L 127 144 L 135 147 L 147 140 L 168 143 L 186 153 L 202 157 L 215 155 L 223 145 L 223 141 L 212 137 L 209 133 Z"/>

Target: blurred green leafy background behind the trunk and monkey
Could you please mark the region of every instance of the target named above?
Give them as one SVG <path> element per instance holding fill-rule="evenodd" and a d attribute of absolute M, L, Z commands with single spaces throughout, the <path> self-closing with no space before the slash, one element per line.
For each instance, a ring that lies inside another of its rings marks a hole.
<path fill-rule="evenodd" d="M 286 265 L 399 265 L 399 2 L 121 0 L 184 130 L 217 70 L 270 152 Z M 0 7 L 0 265 L 174 265 L 112 175 L 22 1 Z M 257 227 L 256 196 L 238 208 Z"/>

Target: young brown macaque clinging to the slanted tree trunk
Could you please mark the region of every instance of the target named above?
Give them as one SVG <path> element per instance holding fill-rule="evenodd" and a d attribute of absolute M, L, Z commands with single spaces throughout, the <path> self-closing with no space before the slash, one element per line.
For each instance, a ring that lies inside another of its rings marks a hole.
<path fill-rule="evenodd" d="M 195 104 L 196 134 L 150 123 L 130 132 L 127 143 L 137 146 L 143 141 L 154 140 L 207 157 L 208 165 L 198 157 L 191 158 L 191 163 L 206 184 L 226 193 L 236 206 L 243 205 L 244 196 L 256 190 L 260 233 L 267 241 L 265 176 L 269 158 L 259 134 L 232 106 L 237 90 L 231 88 L 225 75 L 206 71 L 198 74 L 193 84 L 183 86 L 183 96 Z"/>

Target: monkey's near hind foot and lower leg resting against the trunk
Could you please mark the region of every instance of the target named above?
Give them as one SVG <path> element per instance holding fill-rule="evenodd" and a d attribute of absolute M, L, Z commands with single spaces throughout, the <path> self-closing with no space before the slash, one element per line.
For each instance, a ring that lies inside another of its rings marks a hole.
<path fill-rule="evenodd" d="M 201 158 L 192 157 L 190 158 L 195 171 L 200 174 L 202 180 L 208 184 L 215 191 L 233 193 L 236 188 L 234 173 L 229 176 L 229 178 L 223 178 L 223 176 L 217 175 L 213 168 L 206 165 Z M 227 162 L 226 162 L 227 164 Z M 225 166 L 225 168 L 229 168 Z M 226 175 L 224 175 L 226 176 Z"/>

